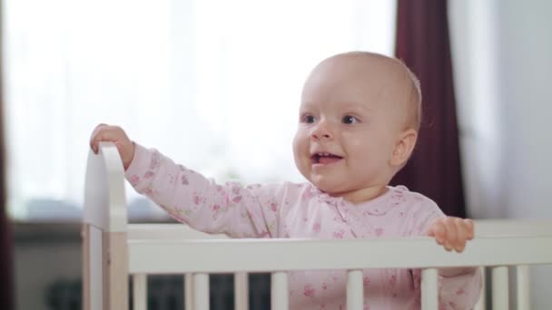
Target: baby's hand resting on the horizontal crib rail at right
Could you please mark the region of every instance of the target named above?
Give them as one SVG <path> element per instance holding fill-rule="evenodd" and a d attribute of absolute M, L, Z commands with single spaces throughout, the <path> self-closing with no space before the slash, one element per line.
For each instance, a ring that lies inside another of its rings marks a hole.
<path fill-rule="evenodd" d="M 462 252 L 466 242 L 474 237 L 473 221 L 468 218 L 437 218 L 426 229 L 425 235 L 435 237 L 437 243 L 447 251 L 454 248 L 457 252 Z"/>

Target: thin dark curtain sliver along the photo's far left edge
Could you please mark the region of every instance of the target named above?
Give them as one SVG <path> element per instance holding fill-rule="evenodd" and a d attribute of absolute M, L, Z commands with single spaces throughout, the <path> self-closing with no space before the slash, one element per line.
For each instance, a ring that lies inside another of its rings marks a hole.
<path fill-rule="evenodd" d="M 0 9 L 0 22 L 2 22 L 1 13 Z M 0 31 L 0 33 L 2 32 Z M 0 51 L 2 51 L 2 42 L 3 38 L 0 36 Z M 1 70 L 2 67 L 0 63 L 0 73 L 4 72 Z M 0 76 L 0 309 L 12 310 L 14 309 L 13 240 L 12 229 L 5 208 L 5 131 L 2 104 L 4 97 L 1 78 Z"/>

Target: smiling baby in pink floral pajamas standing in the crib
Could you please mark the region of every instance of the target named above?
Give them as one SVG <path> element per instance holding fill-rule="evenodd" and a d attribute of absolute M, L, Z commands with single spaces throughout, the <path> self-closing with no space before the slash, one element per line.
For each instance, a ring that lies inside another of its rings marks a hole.
<path fill-rule="evenodd" d="M 396 59 L 351 52 L 319 63 L 301 94 L 293 140 L 308 183 L 218 185 L 100 124 L 91 138 L 113 141 L 126 178 L 173 218 L 231 237 L 435 237 L 461 252 L 473 238 L 469 219 L 445 217 L 431 199 L 389 180 L 416 145 L 421 94 Z M 293 257 L 293 253 L 286 256 Z M 419 309 L 419 269 L 364 270 L 364 309 Z M 290 274 L 291 309 L 344 309 L 344 270 Z M 470 309 L 481 288 L 478 268 L 439 270 L 439 309 Z"/>

